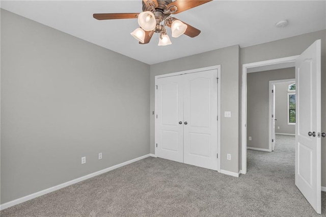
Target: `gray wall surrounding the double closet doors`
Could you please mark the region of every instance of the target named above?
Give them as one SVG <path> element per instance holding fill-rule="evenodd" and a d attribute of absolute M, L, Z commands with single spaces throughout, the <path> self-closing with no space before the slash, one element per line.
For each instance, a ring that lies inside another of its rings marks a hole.
<path fill-rule="evenodd" d="M 239 46 L 200 53 L 150 66 L 150 110 L 155 108 L 155 75 L 221 65 L 221 169 L 238 173 L 238 84 Z M 224 118 L 224 111 L 231 111 L 231 118 Z M 150 116 L 150 148 L 155 152 L 154 115 Z M 227 160 L 227 153 L 231 160 Z"/>

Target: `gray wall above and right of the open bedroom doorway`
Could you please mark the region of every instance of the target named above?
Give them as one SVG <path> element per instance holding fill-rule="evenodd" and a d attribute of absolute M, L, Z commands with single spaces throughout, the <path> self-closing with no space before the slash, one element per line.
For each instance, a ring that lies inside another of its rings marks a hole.
<path fill-rule="evenodd" d="M 321 39 L 321 130 L 326 131 L 326 30 L 240 49 L 240 64 L 300 55 Z M 242 72 L 241 72 L 242 73 Z M 242 76 L 240 74 L 240 76 Z M 240 145 L 240 144 L 239 144 Z M 326 186 L 326 139 L 321 139 L 321 186 Z"/>

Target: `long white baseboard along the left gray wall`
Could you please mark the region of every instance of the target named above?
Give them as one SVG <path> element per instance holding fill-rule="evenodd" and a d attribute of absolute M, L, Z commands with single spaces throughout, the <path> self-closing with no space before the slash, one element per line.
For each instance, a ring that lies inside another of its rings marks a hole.
<path fill-rule="evenodd" d="M 89 179 L 89 178 L 92 178 L 94 176 L 98 176 L 102 173 L 106 173 L 108 171 L 111 171 L 111 170 L 114 170 L 114 169 L 117 169 L 119 167 L 123 167 L 125 165 L 128 165 L 128 164 L 131 164 L 132 162 L 135 162 L 135 161 L 138 161 L 138 160 L 141 160 L 141 159 L 144 159 L 146 157 L 149 157 L 151 156 L 151 154 L 146 154 L 144 156 L 141 156 L 141 157 L 137 157 L 137 158 L 134 158 L 134 159 L 131 159 L 131 160 L 128 160 L 128 161 L 125 161 L 125 162 L 122 162 L 121 164 L 118 164 L 118 165 L 115 165 L 115 166 L 112 166 L 112 167 L 109 167 L 109 168 L 106 168 L 106 169 L 103 169 L 103 170 L 100 170 L 100 171 L 97 171 L 95 173 L 91 173 L 91 174 L 88 174 L 86 176 L 83 176 L 83 177 L 79 177 L 79 178 L 76 178 L 76 179 L 73 179 L 71 181 L 67 181 L 65 183 L 62 183 L 62 184 L 59 184 L 59 185 L 56 185 L 56 186 L 53 186 L 53 187 L 49 187 L 47 189 L 44 189 L 42 191 L 39 191 L 39 192 L 36 192 L 34 194 L 31 194 L 31 195 L 28 195 L 28 196 L 25 196 L 25 197 L 22 197 L 22 198 L 18 198 L 16 200 L 13 200 L 13 201 L 9 201 L 7 203 L 4 203 L 4 204 L 1 204 L 0 205 L 0 210 L 3 210 L 3 209 L 6 209 L 6 208 L 9 208 L 11 206 L 14 206 L 14 205 L 17 205 L 19 203 L 23 203 L 25 201 L 28 201 L 28 200 L 32 200 L 34 198 L 37 198 L 37 197 L 40 197 L 42 195 L 45 195 L 45 194 L 48 194 L 50 192 L 54 192 L 54 191 L 57 191 L 58 189 L 61 189 L 63 187 L 67 187 L 69 185 L 72 185 L 72 184 L 75 184 L 77 182 L 80 182 L 80 181 L 84 181 L 86 179 Z"/>

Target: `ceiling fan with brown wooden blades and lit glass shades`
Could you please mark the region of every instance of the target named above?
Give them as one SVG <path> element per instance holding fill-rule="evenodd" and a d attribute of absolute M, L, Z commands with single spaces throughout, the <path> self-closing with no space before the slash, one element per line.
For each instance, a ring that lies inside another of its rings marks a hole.
<path fill-rule="evenodd" d="M 171 14 L 178 14 L 210 1 L 212 0 L 176 0 L 174 2 L 172 0 L 143 0 L 143 12 L 141 13 L 93 14 L 93 17 L 98 20 L 138 18 L 140 28 L 135 29 L 131 35 L 139 40 L 140 44 L 147 44 L 154 32 L 159 33 L 158 46 L 165 46 L 172 44 L 167 35 L 166 26 L 171 28 L 174 38 L 182 34 L 193 38 L 200 34 L 200 30 L 172 17 Z"/>

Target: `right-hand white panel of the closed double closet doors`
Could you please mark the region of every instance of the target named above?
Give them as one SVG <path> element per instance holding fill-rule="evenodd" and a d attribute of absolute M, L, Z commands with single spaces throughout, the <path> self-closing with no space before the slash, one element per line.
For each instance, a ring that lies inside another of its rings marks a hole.
<path fill-rule="evenodd" d="M 184 163 L 218 169 L 217 71 L 184 75 Z"/>

